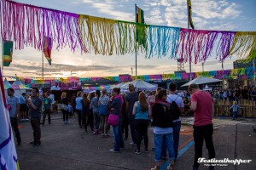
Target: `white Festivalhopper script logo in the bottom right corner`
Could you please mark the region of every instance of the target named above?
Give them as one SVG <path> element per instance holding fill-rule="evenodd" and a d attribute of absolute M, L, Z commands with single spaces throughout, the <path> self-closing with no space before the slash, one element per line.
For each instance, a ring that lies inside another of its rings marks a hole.
<path fill-rule="evenodd" d="M 230 160 L 229 158 L 224 159 L 206 159 L 204 157 L 198 158 L 198 163 L 205 163 L 204 166 L 228 166 L 229 164 L 233 165 L 240 165 L 241 163 L 250 163 L 252 160 L 241 160 L 241 159 L 235 159 Z"/>

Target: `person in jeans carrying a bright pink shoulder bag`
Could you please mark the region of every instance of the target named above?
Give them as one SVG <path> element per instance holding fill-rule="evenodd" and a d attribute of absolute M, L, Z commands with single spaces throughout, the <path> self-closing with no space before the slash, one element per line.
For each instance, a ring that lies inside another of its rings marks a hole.
<path fill-rule="evenodd" d="M 112 94 L 113 97 L 110 99 L 110 114 L 119 116 L 119 124 L 117 126 L 113 126 L 113 139 L 114 139 L 114 146 L 113 149 L 109 150 L 110 152 L 119 152 L 120 148 L 125 148 L 125 143 L 123 140 L 122 134 L 122 105 L 124 100 L 120 93 L 120 88 L 113 88 Z"/>

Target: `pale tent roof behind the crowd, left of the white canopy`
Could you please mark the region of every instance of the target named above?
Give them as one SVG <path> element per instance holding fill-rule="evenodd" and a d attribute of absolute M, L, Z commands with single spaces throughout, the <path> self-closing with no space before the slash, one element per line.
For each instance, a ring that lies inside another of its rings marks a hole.
<path fill-rule="evenodd" d="M 135 80 L 133 82 L 130 82 L 131 84 L 134 85 L 134 87 L 136 88 L 137 91 L 154 91 L 156 90 L 156 86 L 148 83 L 148 82 L 144 82 L 143 80 Z M 129 83 L 125 83 L 123 86 L 120 87 L 121 89 L 128 89 L 129 88 Z"/>

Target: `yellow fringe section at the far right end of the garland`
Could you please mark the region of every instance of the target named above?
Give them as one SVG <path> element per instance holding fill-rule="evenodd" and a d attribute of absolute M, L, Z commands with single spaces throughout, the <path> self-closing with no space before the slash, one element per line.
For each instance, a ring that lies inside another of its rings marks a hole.
<path fill-rule="evenodd" d="M 256 32 L 237 31 L 236 37 L 230 47 L 230 55 L 237 54 L 240 59 L 249 59 L 256 48 Z"/>

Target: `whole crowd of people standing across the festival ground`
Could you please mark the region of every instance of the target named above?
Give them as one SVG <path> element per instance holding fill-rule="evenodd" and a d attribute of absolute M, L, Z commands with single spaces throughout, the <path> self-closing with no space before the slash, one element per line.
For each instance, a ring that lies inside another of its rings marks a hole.
<path fill-rule="evenodd" d="M 20 98 L 15 97 L 15 90 L 9 88 L 8 104 L 11 125 L 15 131 L 17 144 L 21 144 L 17 116 L 30 115 L 34 140 L 30 143 L 35 146 L 41 144 L 41 128 L 44 126 L 46 116 L 48 123 L 51 123 L 50 109 L 52 100 L 49 93 L 39 96 L 38 88 L 32 88 L 32 95 L 22 94 Z M 168 90 L 158 88 L 156 92 L 137 92 L 133 84 L 129 84 L 129 93 L 120 93 L 119 88 L 113 88 L 108 94 L 106 89 L 96 90 L 95 93 L 77 94 L 68 98 L 67 93 L 61 94 L 61 112 L 63 123 L 68 124 L 69 117 L 77 115 L 78 127 L 84 128 L 85 133 L 90 132 L 101 135 L 102 138 L 110 136 L 110 129 L 113 132 L 113 149 L 110 152 L 118 153 L 125 148 L 124 140 L 131 133 L 131 145 L 136 146 L 135 154 L 148 152 L 148 127 L 154 127 L 154 148 L 155 167 L 152 170 L 160 169 L 160 161 L 168 160 L 168 169 L 174 169 L 174 162 L 178 158 L 179 134 L 181 129 L 181 116 L 186 108 L 193 111 L 195 115 L 194 139 L 195 139 L 195 161 L 193 169 L 199 167 L 197 162 L 202 154 L 202 144 L 205 140 L 209 158 L 215 157 L 215 150 L 212 143 L 212 116 L 214 113 L 213 98 L 234 101 L 230 107 L 233 110 L 233 119 L 237 118 L 237 99 L 254 99 L 255 89 L 251 93 L 245 88 L 240 90 L 214 90 L 210 93 L 202 91 L 196 84 L 191 84 L 188 91 L 177 91 L 176 84 L 171 83 Z M 239 94 L 239 95 L 238 95 Z M 247 94 L 247 96 L 245 95 Z M 218 95 L 218 96 L 217 96 Z M 76 114 L 75 114 L 76 113 Z M 43 115 L 43 116 L 41 116 Z M 149 134 L 152 135 L 152 134 Z M 143 149 L 141 144 L 143 141 Z M 167 156 L 168 153 L 168 156 Z M 214 169 L 214 167 L 209 167 Z"/>

